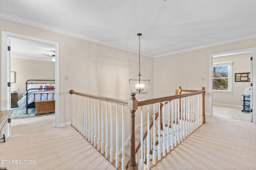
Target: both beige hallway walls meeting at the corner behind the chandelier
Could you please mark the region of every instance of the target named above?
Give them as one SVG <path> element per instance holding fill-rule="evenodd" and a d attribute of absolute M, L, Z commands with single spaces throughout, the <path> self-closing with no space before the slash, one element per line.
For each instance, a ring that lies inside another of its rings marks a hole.
<path fill-rule="evenodd" d="M 138 74 L 138 54 L 0 18 L 0 30 L 60 43 L 60 123 L 71 121 L 70 89 L 127 100 L 128 80 Z M 256 38 L 166 57 L 141 57 L 141 73 L 151 80 L 148 94 L 138 100 L 173 95 L 183 89 L 206 88 L 209 112 L 210 54 L 256 46 Z M 64 80 L 64 75 L 69 80 Z M 202 81 L 204 78 L 204 81 Z"/>

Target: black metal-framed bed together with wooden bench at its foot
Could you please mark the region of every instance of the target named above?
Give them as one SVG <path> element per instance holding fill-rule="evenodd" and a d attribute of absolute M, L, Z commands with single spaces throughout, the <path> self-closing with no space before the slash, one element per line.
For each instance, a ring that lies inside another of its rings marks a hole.
<path fill-rule="evenodd" d="M 26 108 L 26 114 L 29 108 L 36 108 L 36 115 L 54 112 L 55 80 L 27 80 L 26 92 L 17 104 Z"/>

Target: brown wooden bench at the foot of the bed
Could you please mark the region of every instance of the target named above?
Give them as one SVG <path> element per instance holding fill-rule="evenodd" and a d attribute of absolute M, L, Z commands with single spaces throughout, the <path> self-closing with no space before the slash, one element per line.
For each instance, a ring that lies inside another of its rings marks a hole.
<path fill-rule="evenodd" d="M 35 100 L 36 103 L 36 116 L 44 113 L 54 113 L 55 112 L 55 100 Z"/>

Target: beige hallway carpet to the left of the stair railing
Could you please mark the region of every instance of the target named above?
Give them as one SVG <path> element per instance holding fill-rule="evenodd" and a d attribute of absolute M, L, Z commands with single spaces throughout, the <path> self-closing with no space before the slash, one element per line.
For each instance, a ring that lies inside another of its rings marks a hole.
<path fill-rule="evenodd" d="M 11 123 L 12 137 L 5 143 L 0 142 L 0 167 L 8 170 L 116 169 L 73 127 L 55 128 L 54 115 L 15 119 Z"/>

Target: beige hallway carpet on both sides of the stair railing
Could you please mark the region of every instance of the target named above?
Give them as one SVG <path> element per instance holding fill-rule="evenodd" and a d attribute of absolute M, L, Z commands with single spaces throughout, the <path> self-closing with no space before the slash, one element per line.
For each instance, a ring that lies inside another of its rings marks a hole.
<path fill-rule="evenodd" d="M 54 119 L 54 115 L 48 115 L 12 120 L 12 137 L 6 143 L 0 142 L 0 167 L 8 170 L 116 169 L 73 127 L 55 128 Z M 3 162 L 5 160 L 10 164 Z M 26 164 L 24 160 L 32 163 Z M 206 124 L 153 168 L 170 169 L 255 170 L 256 124 L 207 116 Z"/>

